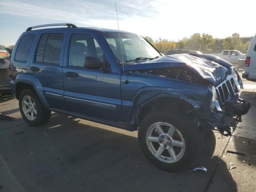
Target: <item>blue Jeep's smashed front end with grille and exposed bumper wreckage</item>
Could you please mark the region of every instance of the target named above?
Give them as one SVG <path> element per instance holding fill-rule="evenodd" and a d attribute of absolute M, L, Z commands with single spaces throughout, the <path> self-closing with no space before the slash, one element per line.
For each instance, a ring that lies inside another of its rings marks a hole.
<path fill-rule="evenodd" d="M 231 135 L 230 126 L 234 127 L 237 122 L 242 122 L 242 115 L 250 109 L 250 103 L 239 98 L 240 88 L 243 88 L 242 80 L 238 72 L 230 69 L 230 75 L 218 85 L 216 89 L 216 108 L 202 114 L 198 119 L 202 126 L 215 128 L 225 135 Z"/>

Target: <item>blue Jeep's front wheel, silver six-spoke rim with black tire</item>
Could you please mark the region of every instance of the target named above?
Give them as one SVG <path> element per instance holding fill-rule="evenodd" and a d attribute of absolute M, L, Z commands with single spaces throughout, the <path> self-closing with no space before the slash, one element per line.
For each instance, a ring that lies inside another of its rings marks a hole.
<path fill-rule="evenodd" d="M 138 140 L 145 156 L 158 168 L 179 172 L 191 167 L 200 149 L 196 122 L 180 112 L 151 112 L 140 123 Z"/>

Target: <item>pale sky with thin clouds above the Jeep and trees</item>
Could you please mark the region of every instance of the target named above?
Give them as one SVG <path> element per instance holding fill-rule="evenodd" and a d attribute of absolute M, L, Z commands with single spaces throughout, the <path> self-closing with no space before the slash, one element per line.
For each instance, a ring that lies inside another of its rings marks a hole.
<path fill-rule="evenodd" d="M 194 33 L 254 36 L 255 0 L 0 0 L 0 44 L 15 44 L 30 26 L 72 23 L 118 29 L 154 40 Z"/>

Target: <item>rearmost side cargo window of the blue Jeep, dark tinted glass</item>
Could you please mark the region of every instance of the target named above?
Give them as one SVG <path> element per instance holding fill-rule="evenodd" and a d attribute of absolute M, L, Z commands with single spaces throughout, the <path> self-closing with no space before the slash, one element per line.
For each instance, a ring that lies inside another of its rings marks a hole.
<path fill-rule="evenodd" d="M 28 61 L 28 55 L 35 37 L 35 34 L 25 35 L 22 37 L 16 52 L 15 60 Z"/>

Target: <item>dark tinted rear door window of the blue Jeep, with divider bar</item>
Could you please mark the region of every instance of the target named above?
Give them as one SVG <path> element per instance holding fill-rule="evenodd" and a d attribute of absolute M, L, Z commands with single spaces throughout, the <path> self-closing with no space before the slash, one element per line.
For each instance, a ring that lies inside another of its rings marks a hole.
<path fill-rule="evenodd" d="M 36 61 L 60 64 L 60 52 L 63 39 L 63 33 L 43 34 L 38 43 Z"/>

